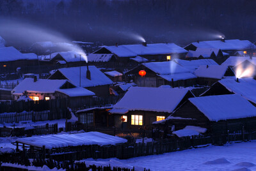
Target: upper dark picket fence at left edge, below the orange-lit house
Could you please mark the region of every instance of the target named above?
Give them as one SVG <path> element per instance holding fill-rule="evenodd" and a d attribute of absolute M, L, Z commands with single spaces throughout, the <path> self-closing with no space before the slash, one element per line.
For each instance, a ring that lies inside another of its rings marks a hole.
<path fill-rule="evenodd" d="M 19 123 L 20 121 L 46 121 L 49 120 L 49 110 L 40 112 L 12 112 L 0 114 L 0 124 Z"/>

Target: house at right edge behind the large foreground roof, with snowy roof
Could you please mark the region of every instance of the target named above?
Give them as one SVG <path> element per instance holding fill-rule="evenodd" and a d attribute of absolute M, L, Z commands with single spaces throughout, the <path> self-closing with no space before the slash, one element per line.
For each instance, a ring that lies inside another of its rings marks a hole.
<path fill-rule="evenodd" d="M 256 80 L 253 78 L 222 79 L 213 84 L 201 96 L 212 96 L 221 94 L 239 94 L 256 106 Z"/>

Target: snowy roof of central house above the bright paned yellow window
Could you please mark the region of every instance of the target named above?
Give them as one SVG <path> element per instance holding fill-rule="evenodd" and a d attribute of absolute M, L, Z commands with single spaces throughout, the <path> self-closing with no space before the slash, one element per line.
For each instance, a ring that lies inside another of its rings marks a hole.
<path fill-rule="evenodd" d="M 109 112 L 125 114 L 129 110 L 145 110 L 171 113 L 188 92 L 188 89 L 131 87 Z"/>

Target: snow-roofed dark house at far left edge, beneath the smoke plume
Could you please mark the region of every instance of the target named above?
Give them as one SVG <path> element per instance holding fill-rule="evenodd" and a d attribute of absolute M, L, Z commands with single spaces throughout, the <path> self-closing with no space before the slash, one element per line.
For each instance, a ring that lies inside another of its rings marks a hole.
<path fill-rule="evenodd" d="M 0 48 L 0 72 L 16 72 L 17 68 L 37 65 L 38 59 L 34 54 L 22 54 L 14 47 Z"/>

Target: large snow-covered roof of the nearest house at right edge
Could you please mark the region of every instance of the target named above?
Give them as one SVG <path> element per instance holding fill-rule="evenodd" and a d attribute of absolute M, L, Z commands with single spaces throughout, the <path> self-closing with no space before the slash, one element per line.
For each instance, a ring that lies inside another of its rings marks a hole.
<path fill-rule="evenodd" d="M 256 117 L 256 108 L 238 94 L 189 98 L 210 121 Z"/>

